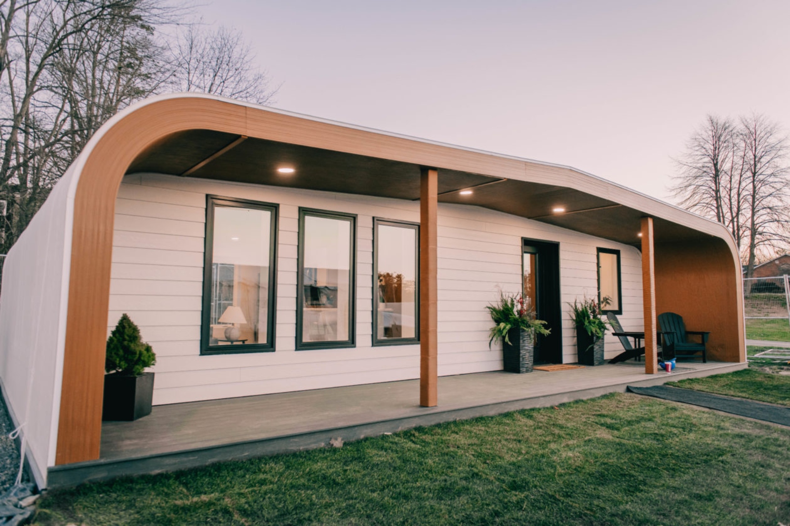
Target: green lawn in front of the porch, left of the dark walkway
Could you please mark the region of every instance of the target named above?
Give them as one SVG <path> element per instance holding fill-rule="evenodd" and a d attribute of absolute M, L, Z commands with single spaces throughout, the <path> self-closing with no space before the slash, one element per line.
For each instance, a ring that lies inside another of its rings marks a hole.
<path fill-rule="evenodd" d="M 52 491 L 36 524 L 790 522 L 790 430 L 633 394 Z"/>

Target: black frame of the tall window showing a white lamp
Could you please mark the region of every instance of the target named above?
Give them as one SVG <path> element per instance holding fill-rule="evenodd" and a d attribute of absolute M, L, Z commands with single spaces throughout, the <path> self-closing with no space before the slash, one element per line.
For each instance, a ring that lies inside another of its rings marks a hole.
<path fill-rule="evenodd" d="M 262 201 L 239 199 L 236 197 L 215 196 L 212 194 L 207 194 L 205 199 L 205 245 L 203 259 L 203 300 L 201 304 L 200 353 L 203 356 L 215 354 L 273 353 L 276 342 L 276 252 L 277 233 L 279 232 L 278 223 L 280 216 L 280 206 L 276 203 L 265 203 Z M 267 330 L 265 343 L 209 345 L 211 336 L 211 285 L 214 252 L 214 208 L 216 206 L 251 208 L 254 210 L 269 211 L 272 214 L 272 221 L 269 225 L 269 309 L 266 316 Z"/>

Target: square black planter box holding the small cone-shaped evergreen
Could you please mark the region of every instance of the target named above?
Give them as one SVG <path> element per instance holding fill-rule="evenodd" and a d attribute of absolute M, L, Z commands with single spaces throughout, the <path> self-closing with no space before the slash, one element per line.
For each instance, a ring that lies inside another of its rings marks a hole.
<path fill-rule="evenodd" d="M 101 420 L 137 420 L 149 415 L 152 398 L 152 372 L 140 376 L 104 375 Z"/>

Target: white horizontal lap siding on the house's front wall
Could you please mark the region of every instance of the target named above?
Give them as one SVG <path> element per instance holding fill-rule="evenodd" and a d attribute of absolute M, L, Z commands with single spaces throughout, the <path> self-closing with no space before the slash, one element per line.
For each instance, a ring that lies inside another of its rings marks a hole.
<path fill-rule="evenodd" d="M 200 355 L 205 195 L 280 205 L 276 352 Z M 299 207 L 357 215 L 356 347 L 295 351 Z M 419 345 L 372 347 L 373 218 L 419 221 L 419 204 L 367 196 L 137 174 L 119 190 L 108 332 L 123 312 L 156 351 L 154 403 L 248 396 L 419 377 Z M 596 247 L 621 250 L 623 315 L 641 329 L 641 263 L 626 245 L 478 207 L 438 211 L 438 371 L 494 371 L 501 349 L 488 349 L 485 306 L 498 289 L 516 292 L 521 237 L 559 241 L 563 360 L 576 360 L 566 303 L 597 290 Z M 608 356 L 619 341 L 607 339 Z"/>

